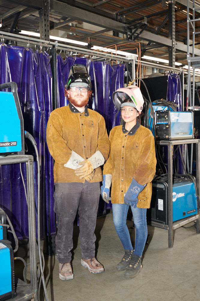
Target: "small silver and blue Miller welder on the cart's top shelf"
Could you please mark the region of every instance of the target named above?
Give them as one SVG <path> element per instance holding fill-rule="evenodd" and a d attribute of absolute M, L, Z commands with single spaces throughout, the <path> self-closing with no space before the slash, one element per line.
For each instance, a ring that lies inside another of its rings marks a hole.
<path fill-rule="evenodd" d="M 155 112 L 156 140 L 193 139 L 193 113 L 160 110 Z"/>

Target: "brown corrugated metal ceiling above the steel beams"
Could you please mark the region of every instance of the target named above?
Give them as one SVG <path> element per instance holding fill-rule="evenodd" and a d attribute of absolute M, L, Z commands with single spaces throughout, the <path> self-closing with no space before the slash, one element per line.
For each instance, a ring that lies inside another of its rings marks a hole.
<path fill-rule="evenodd" d="M 138 47 L 140 43 L 142 54 L 168 60 L 168 48 L 171 41 L 168 14 L 171 2 L 163 0 L 50 0 L 50 35 L 55 33 L 55 30 L 59 30 L 58 33 L 62 37 L 89 42 L 91 45 L 101 47 L 115 44 L 118 50 L 126 49 L 131 53 L 136 53 L 136 49 L 131 48 Z M 39 9 L 42 5 L 42 0 L 0 1 L 2 23 L 0 30 L 13 33 L 20 32 L 20 30 L 39 32 Z M 196 2 L 196 5 L 200 8 L 199 2 Z M 196 17 L 199 15 L 200 11 L 196 11 Z M 192 17 L 192 9 L 190 17 Z M 137 27 L 136 33 L 141 32 L 142 29 L 144 31 L 136 39 L 135 33 L 134 41 L 127 41 L 126 31 L 132 33 Z M 196 22 L 196 31 L 199 29 L 200 21 Z M 186 0 L 175 1 L 175 40 L 177 42 L 175 61 L 187 64 Z M 196 36 L 195 42 L 195 47 L 198 49 L 200 35 Z"/>

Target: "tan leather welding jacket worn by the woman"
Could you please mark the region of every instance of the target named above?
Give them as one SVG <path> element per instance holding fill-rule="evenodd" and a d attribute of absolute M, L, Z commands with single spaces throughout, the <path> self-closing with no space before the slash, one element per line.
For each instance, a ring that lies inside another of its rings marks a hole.
<path fill-rule="evenodd" d="M 110 155 L 103 167 L 103 174 L 112 174 L 111 202 L 124 203 L 124 193 L 133 177 L 146 185 L 138 195 L 139 208 L 149 208 L 151 203 L 151 181 L 156 172 L 154 136 L 151 131 L 136 125 L 128 132 L 125 123 L 115 126 L 109 135 Z"/>

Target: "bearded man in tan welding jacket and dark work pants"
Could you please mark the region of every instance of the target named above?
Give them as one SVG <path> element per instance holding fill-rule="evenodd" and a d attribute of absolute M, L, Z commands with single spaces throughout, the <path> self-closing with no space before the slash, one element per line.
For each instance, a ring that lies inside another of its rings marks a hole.
<path fill-rule="evenodd" d="M 104 272 L 95 258 L 94 234 L 103 180 L 101 165 L 109 156 L 105 120 L 87 108 L 91 80 L 84 65 L 71 67 L 65 96 L 69 104 L 50 114 L 46 141 L 54 163 L 54 211 L 58 215 L 56 254 L 59 278 L 73 279 L 71 250 L 73 222 L 78 210 L 81 265 L 91 273 Z"/>

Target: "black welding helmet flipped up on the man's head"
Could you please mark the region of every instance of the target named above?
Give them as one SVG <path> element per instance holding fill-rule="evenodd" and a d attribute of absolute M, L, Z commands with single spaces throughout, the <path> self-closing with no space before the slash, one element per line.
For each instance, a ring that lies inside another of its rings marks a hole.
<path fill-rule="evenodd" d="M 88 70 L 82 64 L 76 64 L 70 68 L 70 72 L 67 79 L 67 90 L 69 90 L 70 85 L 72 83 L 76 83 L 76 82 L 77 85 L 80 82 L 88 84 L 88 89 L 91 90 L 92 85 L 91 85 L 90 76 L 88 74 Z"/>

